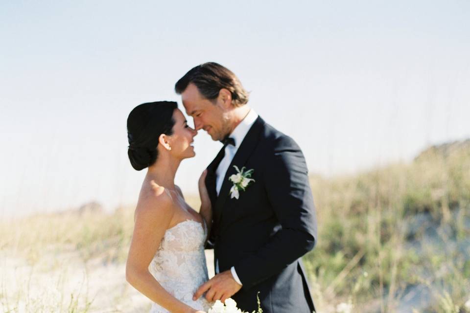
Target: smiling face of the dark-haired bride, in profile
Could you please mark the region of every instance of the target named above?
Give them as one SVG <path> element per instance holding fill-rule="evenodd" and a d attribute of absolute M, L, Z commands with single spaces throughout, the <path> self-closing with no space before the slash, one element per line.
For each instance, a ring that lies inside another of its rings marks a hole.
<path fill-rule="evenodd" d="M 197 132 L 188 126 L 185 116 L 179 109 L 173 112 L 173 119 L 175 120 L 173 134 L 168 138 L 170 153 L 179 159 L 195 156 L 192 143 Z"/>

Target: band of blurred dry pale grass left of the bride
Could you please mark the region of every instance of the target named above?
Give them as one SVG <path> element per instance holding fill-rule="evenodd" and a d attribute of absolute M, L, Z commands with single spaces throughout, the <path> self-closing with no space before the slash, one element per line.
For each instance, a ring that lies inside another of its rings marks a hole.
<path fill-rule="evenodd" d="M 120 208 L 113 214 L 64 212 L 3 222 L 0 248 L 23 254 L 31 265 L 45 252 L 70 251 L 79 251 L 84 261 L 125 262 L 133 214 L 133 208 Z"/>

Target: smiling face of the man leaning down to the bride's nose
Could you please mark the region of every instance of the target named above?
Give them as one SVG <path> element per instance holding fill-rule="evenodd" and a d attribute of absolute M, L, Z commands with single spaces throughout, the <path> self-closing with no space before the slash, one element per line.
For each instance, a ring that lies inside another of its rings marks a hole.
<path fill-rule="evenodd" d="M 196 85 L 190 83 L 181 93 L 181 98 L 186 113 L 194 119 L 196 131 L 205 130 L 212 140 L 222 140 L 230 134 L 229 114 L 222 96 L 211 101 L 199 92 Z"/>

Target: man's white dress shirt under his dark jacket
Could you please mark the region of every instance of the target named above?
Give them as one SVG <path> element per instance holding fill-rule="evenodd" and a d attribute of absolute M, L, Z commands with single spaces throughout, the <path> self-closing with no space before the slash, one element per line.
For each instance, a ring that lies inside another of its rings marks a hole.
<path fill-rule="evenodd" d="M 235 140 L 235 146 L 233 145 L 227 145 L 225 147 L 225 156 L 222 158 L 222 160 L 219 163 L 219 166 L 217 167 L 217 170 L 215 171 L 216 179 L 215 179 L 215 190 L 217 191 L 217 195 L 220 192 L 220 189 L 222 188 L 222 183 L 224 182 L 225 174 L 227 173 L 227 170 L 229 169 L 229 165 L 232 162 L 236 151 L 240 147 L 243 139 L 245 138 L 246 134 L 250 130 L 250 128 L 253 126 L 255 123 L 256 119 L 258 118 L 257 112 L 255 110 L 251 109 L 250 112 L 245 116 L 245 118 L 238 124 L 232 134 L 229 135 L 229 137 L 234 138 Z M 232 276 L 234 276 L 235 281 L 242 285 L 240 282 L 240 279 L 236 275 L 235 268 L 232 267 L 230 268 L 230 271 L 232 272 Z M 219 272 L 219 260 L 215 260 L 215 273 L 217 274 Z"/>

